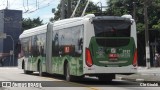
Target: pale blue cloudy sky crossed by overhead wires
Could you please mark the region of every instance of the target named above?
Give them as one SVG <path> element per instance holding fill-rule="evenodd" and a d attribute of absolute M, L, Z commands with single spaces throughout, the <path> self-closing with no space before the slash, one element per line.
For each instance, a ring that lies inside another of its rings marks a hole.
<path fill-rule="evenodd" d="M 7 4 L 8 1 L 8 4 Z M 91 0 L 95 4 L 102 2 L 102 6 L 106 6 L 106 0 Z M 52 8 L 57 8 L 60 0 L 0 0 L 0 10 L 22 10 L 23 18 L 40 17 L 43 23 L 49 22 L 51 17 L 54 17 Z M 8 7 L 7 7 L 8 6 Z"/>

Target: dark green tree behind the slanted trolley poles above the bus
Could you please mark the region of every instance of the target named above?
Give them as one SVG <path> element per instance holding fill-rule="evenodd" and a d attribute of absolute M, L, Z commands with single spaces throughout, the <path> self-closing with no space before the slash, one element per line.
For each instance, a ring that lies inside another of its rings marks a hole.
<path fill-rule="evenodd" d="M 65 1 L 65 7 L 67 9 L 67 0 L 64 0 L 64 1 Z M 72 4 L 72 7 L 71 7 L 72 10 L 71 11 L 73 12 L 74 8 L 76 7 L 76 4 L 77 4 L 78 0 L 71 0 L 71 1 L 72 1 L 71 2 L 71 4 Z M 81 0 L 80 5 L 77 8 L 75 17 L 81 16 L 86 3 L 87 3 L 87 0 Z M 55 11 L 55 13 L 54 13 L 54 15 L 55 15 L 54 20 L 58 20 L 60 18 L 60 5 L 61 5 L 61 3 L 58 5 L 57 11 Z M 88 8 L 86 10 L 86 13 L 89 14 L 89 13 L 96 13 L 96 12 L 100 12 L 100 8 L 97 5 L 94 5 L 93 2 L 90 2 L 89 5 L 88 5 Z M 67 10 L 65 10 L 65 18 L 67 18 Z"/>

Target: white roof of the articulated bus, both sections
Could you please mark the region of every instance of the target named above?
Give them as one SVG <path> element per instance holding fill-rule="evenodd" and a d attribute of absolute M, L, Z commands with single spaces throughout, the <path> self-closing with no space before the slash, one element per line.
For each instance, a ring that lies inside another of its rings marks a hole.
<path fill-rule="evenodd" d="M 63 19 L 63 20 L 59 20 L 59 21 L 55 21 L 54 22 L 54 27 L 62 27 L 66 24 L 70 24 L 70 23 L 77 23 L 79 21 L 82 21 L 86 18 L 93 18 L 94 20 L 102 20 L 102 19 L 107 19 L 107 20 L 113 20 L 113 19 L 118 19 L 118 20 L 128 20 L 127 17 L 117 17 L 117 16 L 96 16 L 94 14 L 88 14 L 84 17 L 74 17 L 74 18 L 69 18 L 69 19 Z M 33 35 L 37 35 L 37 34 L 41 34 L 41 33 L 46 33 L 47 32 L 47 25 L 42 25 L 42 26 L 38 26 L 32 29 L 28 29 L 25 30 L 20 36 L 19 38 L 24 38 L 24 37 L 29 37 L 29 36 L 33 36 Z"/>

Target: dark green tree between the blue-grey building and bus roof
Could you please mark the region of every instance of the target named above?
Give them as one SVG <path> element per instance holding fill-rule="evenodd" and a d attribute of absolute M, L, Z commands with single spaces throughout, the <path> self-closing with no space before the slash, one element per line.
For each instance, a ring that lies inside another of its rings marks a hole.
<path fill-rule="evenodd" d="M 40 25 L 43 25 L 43 20 L 40 20 L 40 18 L 34 18 L 33 20 L 30 18 L 23 18 L 22 20 L 22 28 L 23 30 L 27 30 L 30 28 L 34 28 Z"/>

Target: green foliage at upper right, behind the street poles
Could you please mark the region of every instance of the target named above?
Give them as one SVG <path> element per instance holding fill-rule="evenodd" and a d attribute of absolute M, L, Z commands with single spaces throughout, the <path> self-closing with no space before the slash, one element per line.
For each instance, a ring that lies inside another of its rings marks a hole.
<path fill-rule="evenodd" d="M 133 16 L 133 9 L 135 2 L 135 15 L 137 22 L 137 30 L 141 32 L 144 30 L 144 0 L 106 0 L 108 1 L 108 8 L 106 13 L 108 15 L 121 16 L 124 14 L 131 14 Z M 149 29 L 160 29 L 160 0 L 148 0 L 148 22 Z"/>

